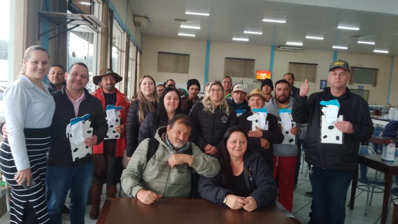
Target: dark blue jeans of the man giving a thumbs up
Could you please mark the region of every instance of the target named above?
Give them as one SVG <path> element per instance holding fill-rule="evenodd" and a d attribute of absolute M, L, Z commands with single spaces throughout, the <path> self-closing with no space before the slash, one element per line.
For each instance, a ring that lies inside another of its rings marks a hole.
<path fill-rule="evenodd" d="M 309 224 L 344 224 L 347 191 L 353 176 L 354 171 L 312 167 Z"/>

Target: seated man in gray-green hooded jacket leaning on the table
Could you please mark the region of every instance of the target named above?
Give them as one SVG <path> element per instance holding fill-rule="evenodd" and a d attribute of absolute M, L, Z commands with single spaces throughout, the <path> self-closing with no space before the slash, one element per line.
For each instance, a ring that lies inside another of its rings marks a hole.
<path fill-rule="evenodd" d="M 218 174 L 217 159 L 188 141 L 191 130 L 192 121 L 187 115 L 175 115 L 167 127 L 156 131 L 154 138 L 138 145 L 121 176 L 127 196 L 147 205 L 160 198 L 190 198 L 194 172 L 205 177 Z"/>

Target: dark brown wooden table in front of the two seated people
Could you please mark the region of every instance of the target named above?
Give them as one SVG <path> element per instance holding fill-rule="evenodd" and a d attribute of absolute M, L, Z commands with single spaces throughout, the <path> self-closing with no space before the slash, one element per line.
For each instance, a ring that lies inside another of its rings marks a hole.
<path fill-rule="evenodd" d="M 273 204 L 246 212 L 201 199 L 161 199 L 145 205 L 136 199 L 106 199 L 97 224 L 299 224 Z"/>

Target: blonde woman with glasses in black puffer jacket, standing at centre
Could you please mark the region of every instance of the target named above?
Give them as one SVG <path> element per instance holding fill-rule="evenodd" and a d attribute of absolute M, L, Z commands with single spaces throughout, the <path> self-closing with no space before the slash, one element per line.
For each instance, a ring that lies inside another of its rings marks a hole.
<path fill-rule="evenodd" d="M 225 102 L 219 81 L 210 83 L 203 100 L 194 104 L 189 116 L 194 122 L 191 141 L 209 155 L 217 153 L 225 131 L 237 122 L 236 112 Z"/>

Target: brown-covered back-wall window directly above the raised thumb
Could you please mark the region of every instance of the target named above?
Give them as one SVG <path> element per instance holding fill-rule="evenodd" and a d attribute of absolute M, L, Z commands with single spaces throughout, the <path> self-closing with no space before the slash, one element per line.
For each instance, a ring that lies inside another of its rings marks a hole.
<path fill-rule="evenodd" d="M 295 81 L 304 82 L 307 79 L 308 82 L 315 82 L 317 68 L 318 64 L 289 62 L 288 72 L 295 74 Z"/>

